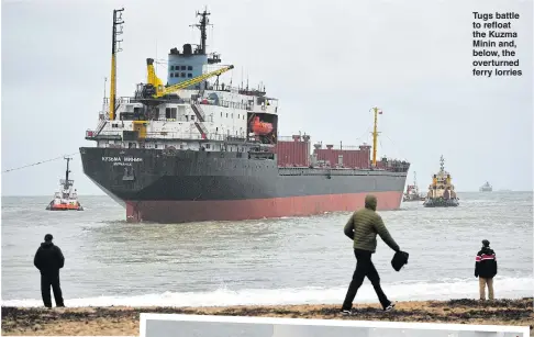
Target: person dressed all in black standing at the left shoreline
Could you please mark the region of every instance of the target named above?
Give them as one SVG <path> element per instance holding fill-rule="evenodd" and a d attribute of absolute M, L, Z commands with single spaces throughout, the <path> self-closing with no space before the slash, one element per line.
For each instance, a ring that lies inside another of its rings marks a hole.
<path fill-rule="evenodd" d="M 45 241 L 41 244 L 33 259 L 33 265 L 41 272 L 41 295 L 46 307 L 52 307 L 51 285 L 56 306 L 65 306 L 59 285 L 59 269 L 65 265 L 65 257 L 52 239 L 52 234 L 45 235 Z"/>

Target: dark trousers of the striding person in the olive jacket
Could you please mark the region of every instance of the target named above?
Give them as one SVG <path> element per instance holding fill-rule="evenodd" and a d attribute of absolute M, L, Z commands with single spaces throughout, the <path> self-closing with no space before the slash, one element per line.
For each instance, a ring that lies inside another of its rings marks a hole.
<path fill-rule="evenodd" d="M 380 287 L 380 277 L 378 276 L 375 265 L 372 265 L 371 252 L 354 249 L 354 255 L 356 256 L 356 270 L 354 270 L 353 280 L 351 281 L 351 285 L 348 285 L 347 295 L 345 296 L 345 302 L 343 302 L 342 310 L 351 310 L 353 307 L 354 297 L 356 297 L 358 289 L 364 283 L 365 277 L 371 282 L 372 288 L 375 288 L 375 292 L 377 293 L 378 301 L 380 301 L 382 307 L 386 308 L 391 302 Z"/>

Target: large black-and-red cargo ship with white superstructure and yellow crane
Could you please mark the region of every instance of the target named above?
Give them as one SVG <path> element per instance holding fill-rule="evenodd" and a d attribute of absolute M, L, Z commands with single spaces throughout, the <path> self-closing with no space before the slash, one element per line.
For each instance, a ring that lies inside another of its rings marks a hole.
<path fill-rule="evenodd" d="M 378 210 L 400 206 L 410 162 L 377 160 L 381 110 L 370 110 L 372 149 L 367 144 L 323 148 L 315 142 L 311 151 L 310 135 L 279 136 L 278 99 L 267 96 L 265 86 L 220 81 L 233 66 L 207 53 L 207 10 L 197 12 L 200 44 L 170 49 L 166 85 L 147 58 L 146 83 L 137 85 L 133 97 L 116 97 L 122 11 L 113 11 L 109 99 L 98 126 L 86 132 L 96 146 L 80 147 L 80 155 L 85 175 L 125 206 L 129 222 L 354 211 L 364 206 L 367 193 L 378 198 Z"/>

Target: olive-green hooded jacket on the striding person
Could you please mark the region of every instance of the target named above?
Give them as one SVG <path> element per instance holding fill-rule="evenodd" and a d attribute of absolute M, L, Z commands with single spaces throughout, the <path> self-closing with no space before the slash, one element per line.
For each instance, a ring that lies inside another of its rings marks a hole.
<path fill-rule="evenodd" d="M 375 252 L 377 249 L 377 234 L 394 251 L 399 251 L 399 245 L 393 240 L 382 222 L 382 217 L 376 212 L 377 198 L 368 194 L 365 198 L 365 209 L 353 213 L 345 225 L 345 235 L 354 240 L 355 249 Z"/>

